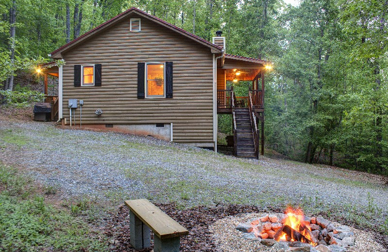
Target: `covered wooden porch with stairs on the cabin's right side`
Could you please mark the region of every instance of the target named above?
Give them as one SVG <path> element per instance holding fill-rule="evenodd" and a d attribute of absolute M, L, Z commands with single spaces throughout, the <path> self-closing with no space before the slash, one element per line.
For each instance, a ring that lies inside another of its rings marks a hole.
<path fill-rule="evenodd" d="M 248 146 L 254 147 L 255 157 L 264 154 L 264 74 L 271 68 L 269 61 L 230 54 L 217 62 L 217 114 L 232 115 L 236 156 L 244 157 L 248 150 L 252 155 Z M 242 81 L 247 90 L 238 95 L 236 88 Z"/>

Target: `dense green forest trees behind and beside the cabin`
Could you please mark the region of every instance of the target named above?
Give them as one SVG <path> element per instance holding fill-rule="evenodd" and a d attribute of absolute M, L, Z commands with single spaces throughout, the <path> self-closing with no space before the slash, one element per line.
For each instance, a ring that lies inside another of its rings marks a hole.
<path fill-rule="evenodd" d="M 1 87 L 131 6 L 207 40 L 221 30 L 227 53 L 275 62 L 268 147 L 388 173 L 388 0 L 0 0 Z"/>

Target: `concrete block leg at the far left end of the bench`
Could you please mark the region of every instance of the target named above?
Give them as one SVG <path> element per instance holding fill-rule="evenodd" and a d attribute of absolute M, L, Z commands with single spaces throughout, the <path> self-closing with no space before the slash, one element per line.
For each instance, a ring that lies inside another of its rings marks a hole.
<path fill-rule="evenodd" d="M 135 250 L 150 247 L 151 230 L 132 211 L 129 211 L 129 234 L 130 244 L 132 244 Z"/>

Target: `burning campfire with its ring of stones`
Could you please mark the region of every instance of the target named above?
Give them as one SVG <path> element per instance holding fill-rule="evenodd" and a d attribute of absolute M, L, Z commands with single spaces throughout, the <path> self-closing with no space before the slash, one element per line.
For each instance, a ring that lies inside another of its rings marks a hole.
<path fill-rule="evenodd" d="M 264 214 L 260 218 L 239 223 L 236 229 L 247 233 L 243 236 L 245 239 L 259 240 L 266 246 L 284 250 L 290 247 L 312 247 L 321 251 L 322 247 L 326 247 L 346 251 L 346 247 L 355 244 L 350 227 L 335 226 L 322 217 L 310 218 L 302 209 L 291 207 L 284 213 Z"/>

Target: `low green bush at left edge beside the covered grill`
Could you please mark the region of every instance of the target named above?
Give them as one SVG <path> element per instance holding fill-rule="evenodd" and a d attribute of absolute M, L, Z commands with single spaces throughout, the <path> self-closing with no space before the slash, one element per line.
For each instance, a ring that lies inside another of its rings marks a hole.
<path fill-rule="evenodd" d="M 27 107 L 32 102 L 42 101 L 44 94 L 39 91 L 32 91 L 28 87 L 21 88 L 16 85 L 15 91 L 0 90 L 0 96 L 8 106 Z"/>

